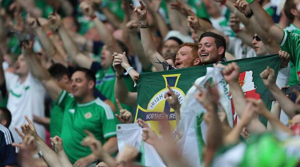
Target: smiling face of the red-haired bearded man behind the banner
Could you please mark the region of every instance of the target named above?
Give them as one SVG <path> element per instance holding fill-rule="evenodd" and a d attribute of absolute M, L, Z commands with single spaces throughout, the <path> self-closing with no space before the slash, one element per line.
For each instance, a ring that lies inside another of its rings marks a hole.
<path fill-rule="evenodd" d="M 200 64 L 200 59 L 189 46 L 181 47 L 176 53 L 175 66 L 177 69 L 193 67 Z"/>

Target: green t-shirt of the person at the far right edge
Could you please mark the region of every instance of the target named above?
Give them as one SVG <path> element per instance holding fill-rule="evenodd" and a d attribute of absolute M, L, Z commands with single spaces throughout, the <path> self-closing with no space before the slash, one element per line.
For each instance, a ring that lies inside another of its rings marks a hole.
<path fill-rule="evenodd" d="M 284 37 L 279 44 L 281 49 L 288 52 L 291 56 L 291 62 L 295 65 L 297 74 L 297 80 L 299 81 L 300 76 L 300 36 L 299 34 L 284 30 Z M 291 71 L 291 74 L 293 71 Z M 295 74 L 295 72 L 294 72 Z"/>

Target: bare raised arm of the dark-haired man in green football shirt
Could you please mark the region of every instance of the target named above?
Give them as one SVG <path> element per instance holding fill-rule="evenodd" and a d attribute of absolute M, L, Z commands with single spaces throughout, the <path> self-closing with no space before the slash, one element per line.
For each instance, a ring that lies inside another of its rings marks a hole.
<path fill-rule="evenodd" d="M 50 73 L 43 68 L 37 56 L 32 51 L 31 41 L 22 43 L 22 54 L 30 73 L 38 79 L 54 101 L 57 101 L 62 88 L 51 78 Z"/>

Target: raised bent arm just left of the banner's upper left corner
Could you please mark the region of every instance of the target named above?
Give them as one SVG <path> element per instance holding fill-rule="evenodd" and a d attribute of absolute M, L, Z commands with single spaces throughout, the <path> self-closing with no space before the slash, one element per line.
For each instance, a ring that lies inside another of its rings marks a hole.
<path fill-rule="evenodd" d="M 115 84 L 114 84 L 114 95 L 115 95 L 115 98 L 117 98 L 121 103 L 135 107 L 136 103 L 137 103 L 137 93 L 129 92 L 126 87 L 125 81 L 123 79 L 124 68 L 121 66 L 121 63 L 123 61 L 126 61 L 127 58 L 126 58 L 126 56 L 125 57 L 122 57 L 122 56 L 123 55 L 117 54 L 117 53 L 114 53 L 112 55 L 112 58 L 113 58 L 112 66 L 113 66 L 113 69 L 115 70 L 115 75 L 117 76 L 115 79 Z"/>

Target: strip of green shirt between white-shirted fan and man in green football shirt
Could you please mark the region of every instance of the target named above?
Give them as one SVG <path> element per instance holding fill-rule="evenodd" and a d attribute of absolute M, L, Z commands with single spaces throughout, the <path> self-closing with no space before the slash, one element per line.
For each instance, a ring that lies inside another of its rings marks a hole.
<path fill-rule="evenodd" d="M 50 136 L 61 136 L 64 111 L 57 105 L 53 105 L 50 111 Z"/>

